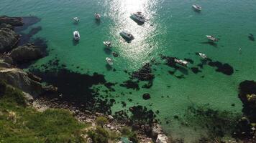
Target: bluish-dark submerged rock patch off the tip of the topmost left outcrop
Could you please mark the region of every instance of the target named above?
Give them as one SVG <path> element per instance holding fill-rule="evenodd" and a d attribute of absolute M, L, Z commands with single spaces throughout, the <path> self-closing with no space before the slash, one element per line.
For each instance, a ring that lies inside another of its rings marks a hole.
<path fill-rule="evenodd" d="M 23 25 L 15 27 L 14 31 L 16 31 L 16 32 L 24 31 L 29 26 L 32 26 L 33 24 L 37 24 L 37 22 L 39 22 L 39 21 L 41 21 L 41 19 L 38 18 L 37 16 L 25 16 L 25 17 L 22 17 Z"/>

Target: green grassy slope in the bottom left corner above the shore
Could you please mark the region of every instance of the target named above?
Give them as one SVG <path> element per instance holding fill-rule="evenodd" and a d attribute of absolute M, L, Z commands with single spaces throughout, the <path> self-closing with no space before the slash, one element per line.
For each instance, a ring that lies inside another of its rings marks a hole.
<path fill-rule="evenodd" d="M 26 106 L 21 92 L 4 87 L 0 85 L 0 142 L 83 142 L 80 134 L 86 125 L 69 112 L 37 112 Z"/>

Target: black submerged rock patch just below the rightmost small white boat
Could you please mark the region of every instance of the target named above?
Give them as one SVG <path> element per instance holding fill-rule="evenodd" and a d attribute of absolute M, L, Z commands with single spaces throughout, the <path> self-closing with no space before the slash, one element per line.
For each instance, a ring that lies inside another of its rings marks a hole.
<path fill-rule="evenodd" d="M 222 64 L 219 61 L 210 61 L 209 66 L 215 66 L 217 67 L 216 71 L 221 72 L 226 75 L 232 75 L 234 73 L 234 69 L 229 64 Z"/>

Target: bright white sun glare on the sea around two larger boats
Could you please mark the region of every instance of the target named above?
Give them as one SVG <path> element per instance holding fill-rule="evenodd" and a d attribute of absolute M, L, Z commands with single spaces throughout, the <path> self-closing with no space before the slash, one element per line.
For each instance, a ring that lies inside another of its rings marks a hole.
<path fill-rule="evenodd" d="M 113 21 L 110 33 L 115 36 L 120 56 L 128 60 L 128 64 L 131 66 L 149 60 L 149 55 L 157 48 L 157 42 L 154 41 L 154 36 L 157 33 L 156 24 L 154 24 L 157 1 L 107 0 L 105 5 L 109 7 L 107 15 Z M 133 21 L 130 16 L 137 11 L 141 11 L 150 21 L 142 25 Z M 129 31 L 134 36 L 134 40 L 130 43 L 127 43 L 119 36 L 119 32 L 124 30 Z"/>

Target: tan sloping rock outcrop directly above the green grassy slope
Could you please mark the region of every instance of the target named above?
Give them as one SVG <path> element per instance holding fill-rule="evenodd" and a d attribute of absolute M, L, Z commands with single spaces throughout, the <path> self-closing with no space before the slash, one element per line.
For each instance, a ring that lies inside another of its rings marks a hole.
<path fill-rule="evenodd" d="M 3 79 L 7 84 L 12 85 L 13 87 L 31 94 L 33 97 L 37 97 L 45 92 L 55 92 L 57 90 L 52 86 L 42 86 L 40 82 L 36 82 L 35 80 L 29 78 L 29 74 L 21 69 L 0 68 L 0 79 Z"/>

